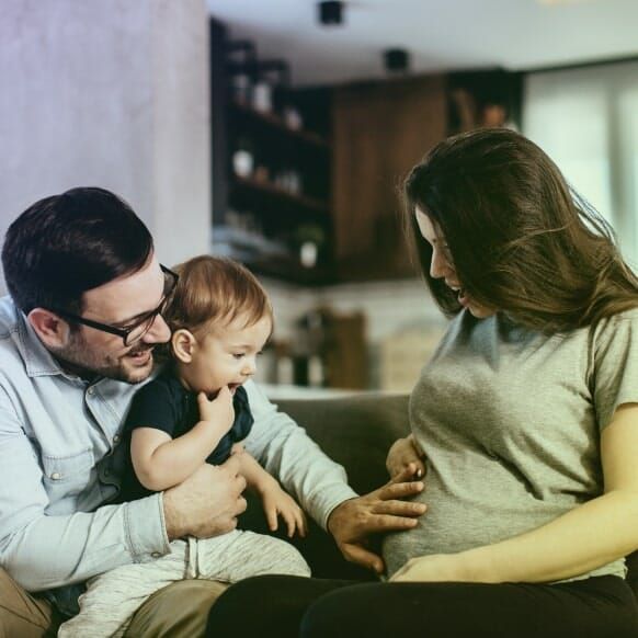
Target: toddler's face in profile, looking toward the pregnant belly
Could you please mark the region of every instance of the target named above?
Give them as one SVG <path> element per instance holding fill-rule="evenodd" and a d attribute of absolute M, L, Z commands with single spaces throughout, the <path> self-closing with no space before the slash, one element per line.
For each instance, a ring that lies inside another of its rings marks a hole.
<path fill-rule="evenodd" d="M 261 353 L 272 331 L 270 317 L 246 326 L 246 315 L 240 315 L 227 326 L 206 334 L 195 348 L 191 367 L 191 381 L 197 391 L 215 396 L 224 386 L 235 392 L 257 371 L 257 356 Z"/>

